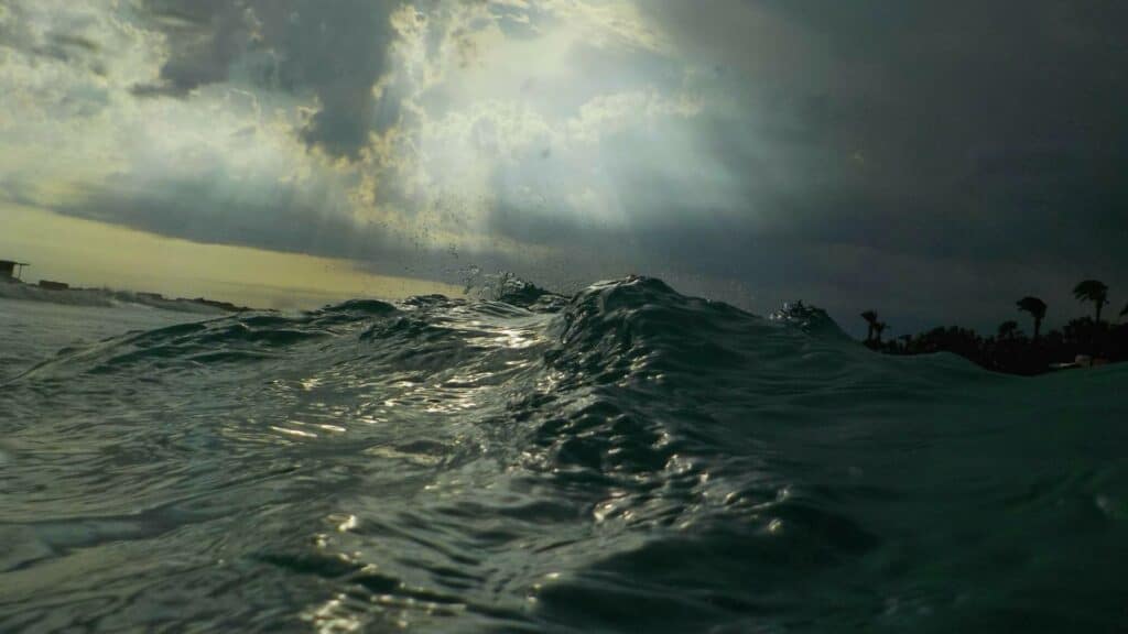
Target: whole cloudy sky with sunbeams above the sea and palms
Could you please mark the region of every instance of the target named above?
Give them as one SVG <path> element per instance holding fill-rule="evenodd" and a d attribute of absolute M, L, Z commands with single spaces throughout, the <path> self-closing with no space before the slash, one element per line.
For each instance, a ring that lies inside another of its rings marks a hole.
<path fill-rule="evenodd" d="M 1117 0 L 0 0 L 0 258 L 314 306 L 628 273 L 853 332 L 1128 300 Z"/>

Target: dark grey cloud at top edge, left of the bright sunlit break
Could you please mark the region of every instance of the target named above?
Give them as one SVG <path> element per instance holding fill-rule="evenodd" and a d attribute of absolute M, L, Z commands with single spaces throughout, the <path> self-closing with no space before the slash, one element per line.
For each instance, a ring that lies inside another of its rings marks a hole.
<path fill-rule="evenodd" d="M 261 86 L 311 94 L 318 108 L 301 130 L 311 148 L 355 159 L 398 122 L 398 104 L 373 88 L 387 70 L 397 0 L 148 0 L 144 19 L 168 37 L 160 82 L 139 96 L 183 97 L 227 81 L 245 63 Z"/>

